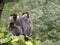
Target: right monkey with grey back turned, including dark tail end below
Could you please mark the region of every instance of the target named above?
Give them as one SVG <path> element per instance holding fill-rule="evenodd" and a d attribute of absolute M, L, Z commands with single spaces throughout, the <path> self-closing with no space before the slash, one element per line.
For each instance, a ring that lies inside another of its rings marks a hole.
<path fill-rule="evenodd" d="M 22 31 L 23 31 L 23 35 L 25 36 L 25 40 L 29 40 L 27 36 L 29 36 L 31 34 L 31 21 L 29 19 L 29 13 L 28 12 L 24 12 L 22 13 L 22 16 L 20 18 L 20 21 L 22 22 Z"/>

